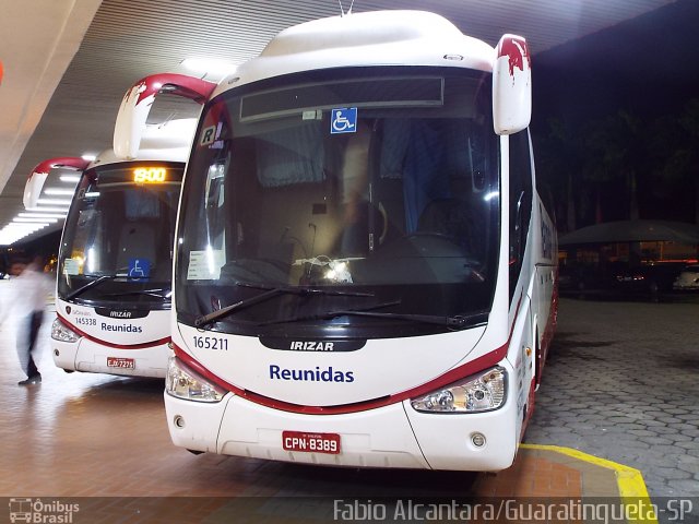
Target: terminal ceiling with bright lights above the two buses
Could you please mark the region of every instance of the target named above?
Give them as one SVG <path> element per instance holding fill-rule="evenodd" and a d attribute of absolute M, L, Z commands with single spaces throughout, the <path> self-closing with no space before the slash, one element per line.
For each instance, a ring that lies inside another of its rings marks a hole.
<path fill-rule="evenodd" d="M 346 10 L 351 0 L 342 3 Z M 433 11 L 491 46 L 503 33 L 523 35 L 535 56 L 668 3 L 355 0 L 353 11 Z M 0 0 L 0 229 L 23 211 L 24 183 L 36 164 L 110 146 L 119 102 L 135 80 L 191 74 L 181 62 L 192 57 L 240 63 L 281 29 L 340 9 L 337 0 Z M 61 226 L 58 221 L 22 241 Z"/>

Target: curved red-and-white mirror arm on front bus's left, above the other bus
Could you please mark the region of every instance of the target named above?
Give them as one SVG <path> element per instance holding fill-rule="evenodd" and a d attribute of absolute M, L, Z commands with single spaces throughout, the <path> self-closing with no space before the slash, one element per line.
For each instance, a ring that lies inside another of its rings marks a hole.
<path fill-rule="evenodd" d="M 139 80 L 127 91 L 119 106 L 114 126 L 115 154 L 127 159 L 138 156 L 145 122 L 158 93 L 178 95 L 203 104 L 214 87 L 216 84 L 213 82 L 176 73 L 152 74 Z"/>

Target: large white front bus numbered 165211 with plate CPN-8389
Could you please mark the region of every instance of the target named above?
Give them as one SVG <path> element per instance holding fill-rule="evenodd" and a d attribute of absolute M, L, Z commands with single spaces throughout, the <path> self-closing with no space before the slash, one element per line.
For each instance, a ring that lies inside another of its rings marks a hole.
<path fill-rule="evenodd" d="M 174 443 L 510 466 L 557 310 L 530 117 L 525 40 L 426 12 L 291 27 L 224 79 L 178 211 Z"/>

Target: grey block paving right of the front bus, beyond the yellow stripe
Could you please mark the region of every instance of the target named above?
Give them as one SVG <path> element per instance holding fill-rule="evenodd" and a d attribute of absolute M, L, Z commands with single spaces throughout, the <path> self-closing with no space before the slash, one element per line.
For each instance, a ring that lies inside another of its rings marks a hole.
<path fill-rule="evenodd" d="M 525 440 L 638 468 L 651 496 L 699 498 L 699 303 L 562 299 Z"/>

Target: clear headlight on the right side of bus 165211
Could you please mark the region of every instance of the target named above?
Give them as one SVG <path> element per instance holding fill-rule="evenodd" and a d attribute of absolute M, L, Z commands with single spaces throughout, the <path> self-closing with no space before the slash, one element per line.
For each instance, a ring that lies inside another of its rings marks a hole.
<path fill-rule="evenodd" d="M 414 409 L 425 413 L 477 413 L 505 404 L 507 372 L 495 367 L 414 398 Z"/>

